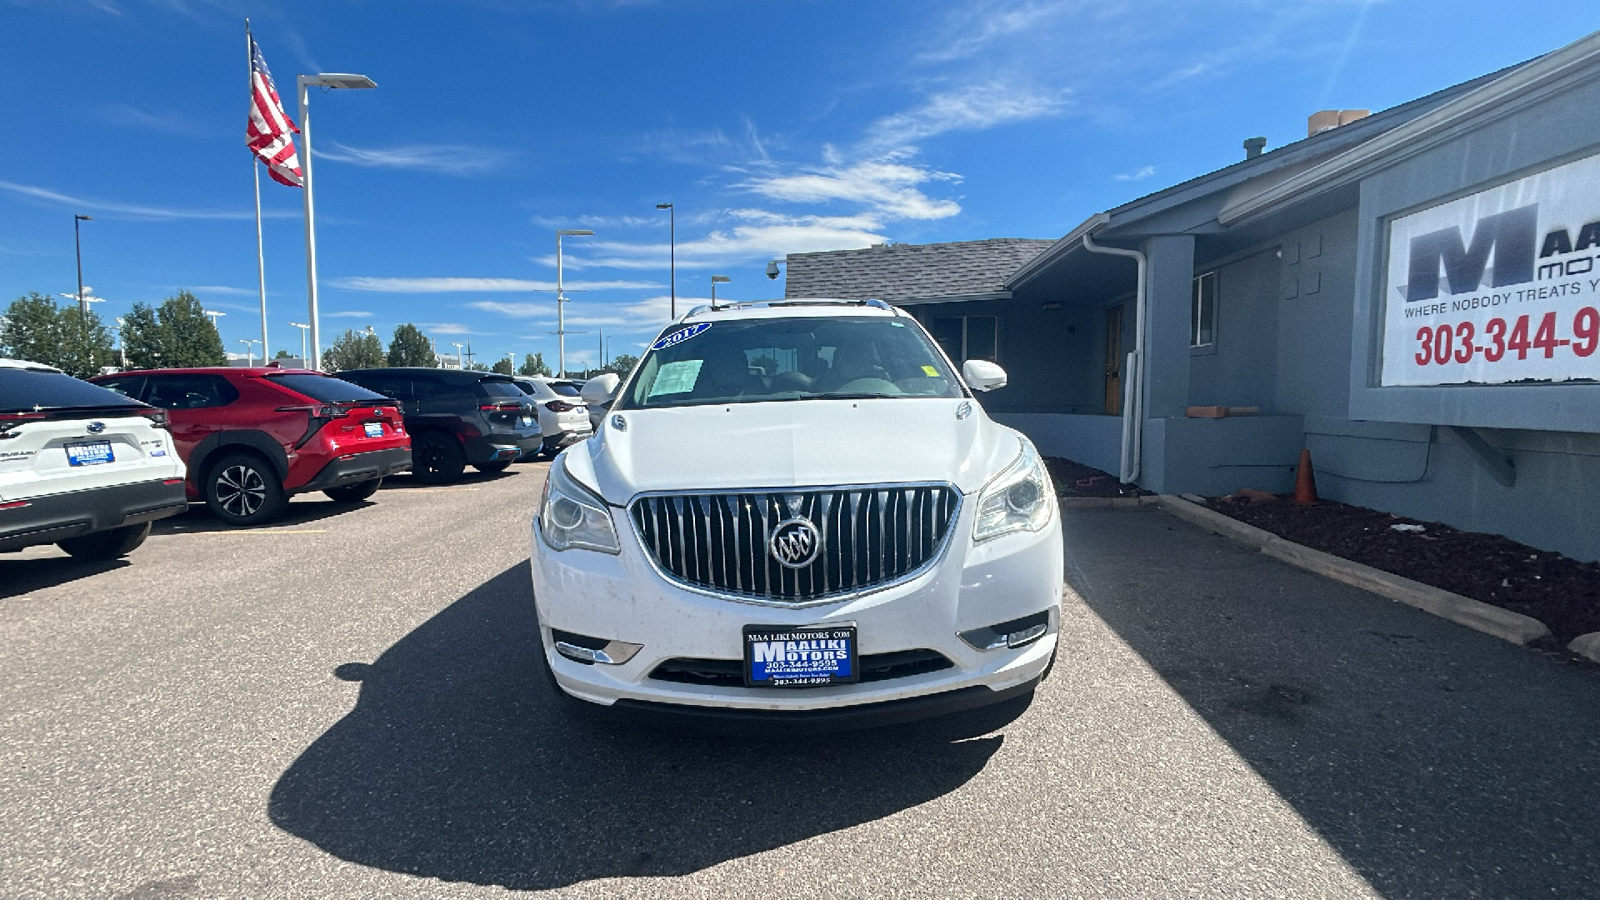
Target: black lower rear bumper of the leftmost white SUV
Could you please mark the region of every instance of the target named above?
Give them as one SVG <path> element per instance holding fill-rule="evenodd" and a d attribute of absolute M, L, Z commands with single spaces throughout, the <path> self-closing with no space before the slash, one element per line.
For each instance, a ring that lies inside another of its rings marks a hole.
<path fill-rule="evenodd" d="M 35 496 L 27 506 L 0 509 L 0 551 L 139 525 L 187 509 L 181 477 Z"/>

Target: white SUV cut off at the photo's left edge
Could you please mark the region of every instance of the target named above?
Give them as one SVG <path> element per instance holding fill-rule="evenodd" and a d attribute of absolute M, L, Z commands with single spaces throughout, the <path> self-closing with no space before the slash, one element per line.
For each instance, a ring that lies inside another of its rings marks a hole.
<path fill-rule="evenodd" d="M 165 420 L 59 368 L 0 359 L 0 551 L 115 559 L 187 509 Z"/>

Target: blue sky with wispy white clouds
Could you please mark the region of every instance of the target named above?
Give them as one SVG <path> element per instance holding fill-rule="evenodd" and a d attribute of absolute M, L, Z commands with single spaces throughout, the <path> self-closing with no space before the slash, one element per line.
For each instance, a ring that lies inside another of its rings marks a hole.
<path fill-rule="evenodd" d="M 75 290 L 106 319 L 179 288 L 259 336 L 251 18 L 312 94 L 323 344 L 418 323 L 480 360 L 637 352 L 678 311 L 782 295 L 784 253 L 1056 239 L 1083 218 L 1595 27 L 1509 2 L 0 0 L 0 303 Z M 1589 16 L 1592 19 L 1592 16 Z M 304 152 L 304 147 L 302 147 Z M 261 179 L 272 349 L 306 317 L 301 194 Z"/>

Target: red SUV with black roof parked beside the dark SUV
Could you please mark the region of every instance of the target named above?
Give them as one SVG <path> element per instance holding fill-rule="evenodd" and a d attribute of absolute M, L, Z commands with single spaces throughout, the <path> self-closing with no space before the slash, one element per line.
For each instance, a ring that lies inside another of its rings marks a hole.
<path fill-rule="evenodd" d="M 152 368 L 90 381 L 166 410 L 189 500 L 234 525 L 275 519 L 291 493 L 366 500 L 411 468 L 395 402 L 317 372 Z"/>

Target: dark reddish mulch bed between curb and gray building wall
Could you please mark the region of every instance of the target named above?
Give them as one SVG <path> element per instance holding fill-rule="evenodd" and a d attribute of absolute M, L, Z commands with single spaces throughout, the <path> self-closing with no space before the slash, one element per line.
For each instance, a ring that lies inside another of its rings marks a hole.
<path fill-rule="evenodd" d="M 1579 634 L 1600 631 L 1600 564 L 1330 500 L 1298 506 L 1288 498 L 1224 496 L 1208 503 L 1298 544 L 1530 615 L 1563 649 Z"/>

